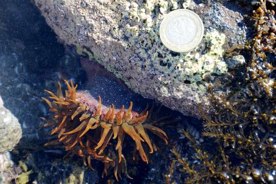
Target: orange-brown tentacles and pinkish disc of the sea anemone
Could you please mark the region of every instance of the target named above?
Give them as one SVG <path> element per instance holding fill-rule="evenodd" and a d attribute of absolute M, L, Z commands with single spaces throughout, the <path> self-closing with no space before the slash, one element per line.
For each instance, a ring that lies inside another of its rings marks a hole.
<path fill-rule="evenodd" d="M 153 153 L 153 146 L 147 130 L 153 132 L 167 144 L 166 133 L 153 125 L 145 124 L 149 111 L 145 109 L 140 114 L 132 111 L 132 102 L 128 109 L 116 109 L 113 104 L 109 107 L 102 105 L 101 97 L 96 101 L 85 91 L 76 91 L 72 80 L 65 80 L 67 90 L 62 93 L 61 84 L 58 83 L 57 94 L 45 90 L 50 94 L 50 99 L 42 98 L 53 112 L 53 120 L 42 118 L 44 127 L 53 126 L 51 135 L 56 134 L 57 140 L 51 141 L 46 146 L 63 144 L 67 155 L 79 155 L 85 166 L 91 166 L 91 159 L 101 160 L 104 164 L 104 173 L 107 175 L 109 168 L 114 168 L 114 176 L 125 173 L 126 159 L 122 153 L 124 136 L 128 134 L 135 142 L 136 150 L 142 160 L 148 163 L 147 154 L 142 145 L 145 142 Z M 143 124 L 144 123 L 144 124 Z M 112 140 L 117 139 L 113 146 Z M 114 154 L 114 150 L 118 153 Z"/>

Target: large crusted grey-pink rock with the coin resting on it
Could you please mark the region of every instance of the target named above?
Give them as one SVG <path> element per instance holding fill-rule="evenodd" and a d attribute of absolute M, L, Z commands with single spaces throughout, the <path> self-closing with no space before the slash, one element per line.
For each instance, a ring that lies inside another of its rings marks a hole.
<path fill-rule="evenodd" d="M 198 104 L 209 103 L 206 78 L 227 73 L 224 50 L 244 41 L 245 12 L 237 2 L 180 2 L 35 0 L 58 37 L 79 54 L 96 59 L 143 97 L 199 116 Z M 168 50 L 159 39 L 160 21 L 179 8 L 192 9 L 205 25 L 202 43 L 185 54 Z"/>

